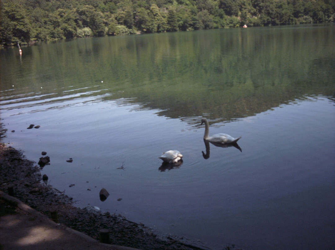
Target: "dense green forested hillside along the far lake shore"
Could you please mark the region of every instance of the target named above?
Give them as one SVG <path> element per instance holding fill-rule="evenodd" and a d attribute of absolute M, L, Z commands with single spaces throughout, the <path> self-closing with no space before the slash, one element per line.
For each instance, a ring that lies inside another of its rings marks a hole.
<path fill-rule="evenodd" d="M 333 22 L 334 12 L 334 0 L 1 0 L 0 42 Z"/>

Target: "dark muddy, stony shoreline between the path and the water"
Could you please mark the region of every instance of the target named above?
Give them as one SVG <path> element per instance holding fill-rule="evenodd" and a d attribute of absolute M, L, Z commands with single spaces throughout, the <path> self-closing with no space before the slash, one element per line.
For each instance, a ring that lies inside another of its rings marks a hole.
<path fill-rule="evenodd" d="M 51 216 L 57 211 L 59 223 L 99 239 L 99 229 L 110 231 L 114 245 L 138 249 L 210 249 L 183 243 L 181 239 L 162 239 L 144 225 L 128 221 L 121 215 L 102 213 L 90 208 L 73 206 L 72 198 L 42 181 L 40 167 L 24 157 L 22 152 L 0 144 L 0 190 L 8 193 L 13 187 L 14 197 L 35 210 Z M 9 188 L 9 189 L 8 189 Z M 224 249 L 232 249 L 231 246 Z"/>

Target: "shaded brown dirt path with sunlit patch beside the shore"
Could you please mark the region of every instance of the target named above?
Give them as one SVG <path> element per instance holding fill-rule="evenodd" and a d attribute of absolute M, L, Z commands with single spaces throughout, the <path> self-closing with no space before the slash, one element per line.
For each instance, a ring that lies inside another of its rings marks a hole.
<path fill-rule="evenodd" d="M 55 223 L 2 191 L 0 211 L 0 249 L 135 250 L 99 243 L 83 233 Z"/>

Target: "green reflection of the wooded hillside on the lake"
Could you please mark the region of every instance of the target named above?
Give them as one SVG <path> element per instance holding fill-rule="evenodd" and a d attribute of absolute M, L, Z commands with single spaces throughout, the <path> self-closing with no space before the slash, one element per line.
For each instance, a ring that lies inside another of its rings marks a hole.
<path fill-rule="evenodd" d="M 208 113 L 231 120 L 304 95 L 332 95 L 332 28 L 210 30 L 42 44 L 29 47 L 23 67 L 2 59 L 7 67 L 1 68 L 9 71 L 1 69 L 2 84 L 36 95 L 47 81 L 39 100 L 124 98 L 161 110 L 162 116 Z"/>

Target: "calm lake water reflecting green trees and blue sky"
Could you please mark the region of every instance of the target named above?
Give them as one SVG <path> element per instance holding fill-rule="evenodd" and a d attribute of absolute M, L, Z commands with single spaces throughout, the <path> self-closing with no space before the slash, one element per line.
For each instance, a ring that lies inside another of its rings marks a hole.
<path fill-rule="evenodd" d="M 161 236 L 334 249 L 334 41 L 329 24 L 1 49 L 3 142 L 36 162 L 46 151 L 42 174 L 77 206 Z M 202 117 L 242 152 L 206 145 Z M 162 165 L 171 149 L 183 162 Z"/>

